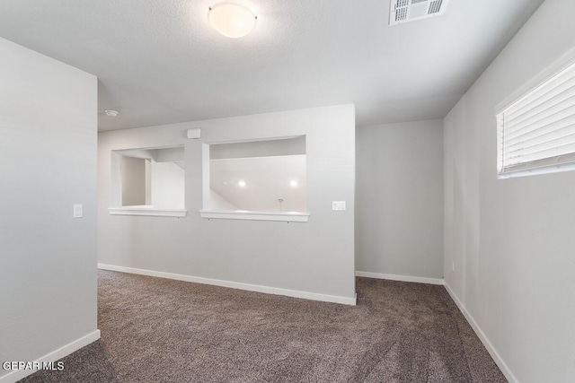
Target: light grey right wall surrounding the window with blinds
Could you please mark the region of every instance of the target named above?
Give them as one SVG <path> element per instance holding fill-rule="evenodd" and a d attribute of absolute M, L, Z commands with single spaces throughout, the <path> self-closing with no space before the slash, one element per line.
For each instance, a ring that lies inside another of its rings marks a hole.
<path fill-rule="evenodd" d="M 575 57 L 573 14 L 545 1 L 445 119 L 446 281 L 526 383 L 575 377 L 575 172 L 498 179 L 495 113 Z"/>

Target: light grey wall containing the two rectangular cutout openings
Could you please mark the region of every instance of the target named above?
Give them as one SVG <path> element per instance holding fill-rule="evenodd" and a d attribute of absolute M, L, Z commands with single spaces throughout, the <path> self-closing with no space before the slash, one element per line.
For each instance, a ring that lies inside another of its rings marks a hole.
<path fill-rule="evenodd" d="M 185 138 L 200 127 L 202 137 Z M 207 220 L 203 144 L 306 136 L 309 222 Z M 111 150 L 185 144 L 181 219 L 110 216 Z M 98 259 L 102 264 L 187 274 L 345 298 L 355 294 L 355 120 L 351 105 L 153 126 L 99 135 Z M 332 201 L 347 210 L 332 211 Z"/>

